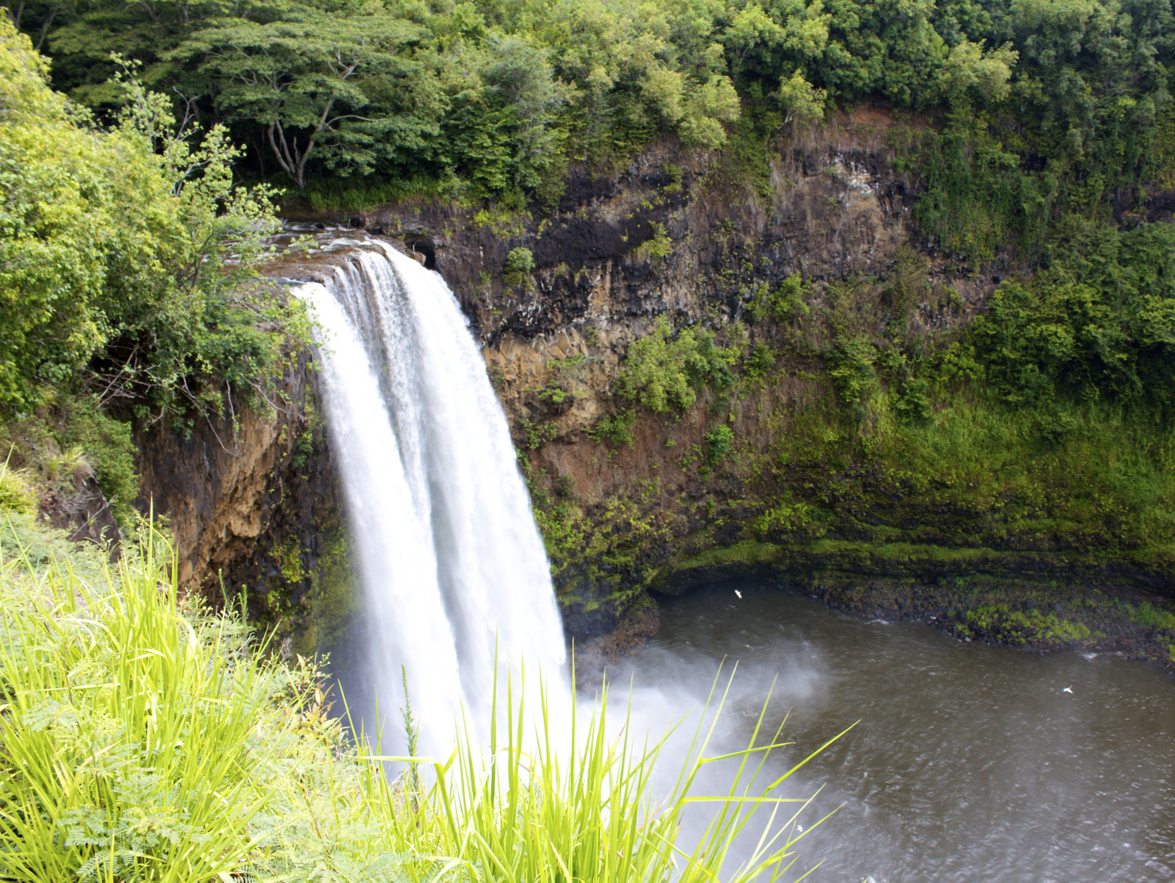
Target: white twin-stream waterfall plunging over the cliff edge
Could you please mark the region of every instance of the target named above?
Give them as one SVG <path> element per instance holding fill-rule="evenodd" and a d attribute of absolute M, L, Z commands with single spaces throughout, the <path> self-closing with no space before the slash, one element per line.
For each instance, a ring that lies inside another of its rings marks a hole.
<path fill-rule="evenodd" d="M 452 291 L 408 256 L 365 243 L 325 284 L 294 294 L 317 323 L 383 749 L 403 749 L 404 665 L 421 750 L 443 754 L 463 710 L 479 730 L 488 724 L 496 670 L 525 663 L 532 685 L 539 670 L 565 679 L 550 569 L 505 414 Z"/>

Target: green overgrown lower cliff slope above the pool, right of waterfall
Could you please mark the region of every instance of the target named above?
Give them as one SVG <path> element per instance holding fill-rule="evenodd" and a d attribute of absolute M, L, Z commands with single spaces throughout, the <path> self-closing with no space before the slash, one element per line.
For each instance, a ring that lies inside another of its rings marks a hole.
<path fill-rule="evenodd" d="M 623 611 L 663 568 L 737 568 L 725 551 L 752 546 L 792 577 L 1020 579 L 1026 600 L 1042 579 L 1169 585 L 1173 229 L 1061 218 L 1046 263 L 953 329 L 914 328 L 958 304 L 908 248 L 882 278 L 747 285 L 716 329 L 659 319 L 589 433 L 630 486 L 586 505 L 531 476 L 565 607 Z M 952 616 L 1013 645 L 1136 638 L 1124 613 L 1102 629 L 1013 596 L 964 595 Z M 1167 660 L 1166 634 L 1140 653 Z"/>

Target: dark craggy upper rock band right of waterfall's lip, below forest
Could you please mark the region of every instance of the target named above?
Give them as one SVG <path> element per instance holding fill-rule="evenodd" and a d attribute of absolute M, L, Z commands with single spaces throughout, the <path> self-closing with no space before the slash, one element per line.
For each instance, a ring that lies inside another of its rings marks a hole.
<path fill-rule="evenodd" d="M 656 316 L 723 324 L 743 316 L 748 288 L 791 274 L 818 284 L 887 276 L 902 245 L 921 245 L 912 221 L 919 184 L 893 168 L 891 127 L 873 108 L 841 115 L 803 144 L 779 142 L 767 180 L 658 144 L 613 175 L 572 170 L 553 211 L 390 205 L 363 221 L 445 277 L 504 378 L 508 411 L 526 417 L 546 365 L 588 355 L 589 336 L 604 336 L 609 362 Z M 535 271 L 508 283 L 503 270 L 519 248 Z M 956 295 L 949 309 L 915 305 L 913 323 L 927 329 L 968 319 L 1006 269 L 976 275 L 922 250 L 935 285 Z M 589 385 L 603 389 L 615 371 L 598 369 Z"/>

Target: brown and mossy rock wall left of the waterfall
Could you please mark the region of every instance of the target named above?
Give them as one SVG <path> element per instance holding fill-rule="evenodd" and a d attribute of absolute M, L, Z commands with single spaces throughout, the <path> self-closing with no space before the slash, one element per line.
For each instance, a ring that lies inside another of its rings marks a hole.
<path fill-rule="evenodd" d="M 338 643 L 357 584 L 308 357 L 271 400 L 188 433 L 141 433 L 137 503 L 166 520 L 181 586 L 217 604 L 244 592 L 284 649 L 314 653 Z"/>

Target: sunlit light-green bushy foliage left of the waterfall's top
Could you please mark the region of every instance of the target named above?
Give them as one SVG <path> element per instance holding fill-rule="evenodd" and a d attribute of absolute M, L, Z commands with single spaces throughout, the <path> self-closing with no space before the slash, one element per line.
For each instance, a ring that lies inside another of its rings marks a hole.
<path fill-rule="evenodd" d="M 141 413 L 264 395 L 298 319 L 249 285 L 276 220 L 234 186 L 223 126 L 197 130 L 116 74 L 113 124 L 45 82 L 0 16 L 0 407 L 81 387 Z"/>

